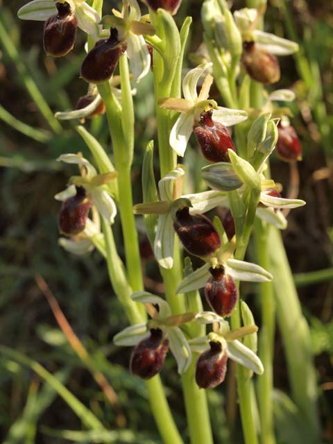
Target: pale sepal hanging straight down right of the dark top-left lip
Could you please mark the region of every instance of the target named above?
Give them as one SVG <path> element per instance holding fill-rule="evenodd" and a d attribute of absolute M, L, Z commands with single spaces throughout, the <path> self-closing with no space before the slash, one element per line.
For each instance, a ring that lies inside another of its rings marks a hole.
<path fill-rule="evenodd" d="M 142 35 L 129 33 L 127 37 L 127 55 L 130 71 L 136 83 L 139 83 L 151 69 L 151 56 Z"/>

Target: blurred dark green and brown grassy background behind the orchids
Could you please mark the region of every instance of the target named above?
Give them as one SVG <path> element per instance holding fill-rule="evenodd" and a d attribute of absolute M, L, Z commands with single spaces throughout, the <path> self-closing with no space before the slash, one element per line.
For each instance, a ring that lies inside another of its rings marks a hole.
<path fill-rule="evenodd" d="M 160 438 L 151 420 L 144 384 L 128 372 L 130 351 L 112 345 L 112 336 L 126 326 L 126 320 L 112 294 L 103 259 L 96 251 L 89 257 L 74 257 L 57 243 L 59 203 L 53 196 L 64 189 L 74 170 L 55 159 L 67 152 L 82 151 L 87 156 L 88 153 L 71 123 L 62 123 L 61 128 L 57 121 L 52 121 L 50 126 L 43 114 L 69 110 L 85 94 L 86 84 L 78 79 L 84 54 L 83 34 L 78 33 L 75 50 L 66 58 L 47 58 L 42 49 L 42 23 L 19 22 L 16 17 L 24 3 L 0 1 L 0 440 L 6 444 L 158 443 Z M 181 21 L 187 11 L 194 11 L 189 51 L 195 51 L 200 44 L 198 6 L 198 2 L 187 0 L 179 12 Z M 243 6 L 241 1 L 234 2 L 235 8 Z M 304 153 L 299 164 L 299 196 L 307 205 L 289 215 L 284 241 L 293 271 L 302 273 L 296 275 L 296 282 L 311 325 L 323 441 L 332 442 L 332 4 L 274 0 L 268 7 L 266 27 L 300 43 L 300 52 L 294 59 L 281 59 L 283 75 L 277 86 L 293 88 L 297 94 L 291 110 Z M 35 91 L 40 94 L 37 104 L 31 99 Z M 152 80 L 148 77 L 140 83 L 135 96 L 133 180 L 139 180 L 143 147 L 154 136 L 153 106 Z M 103 117 L 87 121 L 86 125 L 103 146 L 110 146 Z M 193 152 L 189 152 L 187 162 L 191 162 L 191 155 Z M 289 166 L 275 159 L 272 171 L 275 180 L 287 190 Z M 195 181 L 195 171 L 193 177 Z M 135 187 L 136 202 L 139 193 L 139 187 Z M 121 252 L 121 230 L 117 225 L 114 230 L 119 234 Z M 319 277 L 318 273 L 311 274 L 321 270 L 325 273 L 321 272 Z M 146 273 L 149 283 L 157 285 L 155 264 L 147 263 Z M 105 398 L 87 362 L 78 357 L 58 327 L 35 282 L 37 275 L 49 284 L 90 359 L 117 393 L 113 405 Z M 255 287 L 244 287 L 244 291 L 248 298 L 253 298 Z M 17 350 L 16 354 L 10 349 Z M 37 363 L 43 366 L 42 370 L 36 367 Z M 283 425 L 278 427 L 280 443 L 306 443 L 297 430 L 295 434 L 292 426 L 286 426 L 293 406 L 289 398 L 284 398 L 289 388 L 279 334 L 275 339 L 274 371 L 275 386 L 280 390 L 275 400 L 276 422 Z M 173 359 L 167 360 L 162 378 L 186 441 L 185 411 Z M 87 407 L 108 432 L 89 427 L 90 423 L 74 413 L 75 407 L 68 399 L 65 402 L 58 395 L 59 386 L 54 379 L 60 387 L 65 384 L 74 395 L 74 404 L 76 400 Z M 216 442 L 240 443 L 239 427 L 234 425 L 230 437 L 223 413 L 227 384 L 208 391 L 214 436 Z M 296 437 L 291 439 L 292 436 Z"/>

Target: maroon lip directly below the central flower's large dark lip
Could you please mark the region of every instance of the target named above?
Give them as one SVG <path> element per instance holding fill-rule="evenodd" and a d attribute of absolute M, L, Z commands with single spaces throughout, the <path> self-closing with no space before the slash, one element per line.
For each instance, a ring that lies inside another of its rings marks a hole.
<path fill-rule="evenodd" d="M 220 316 L 230 316 L 237 302 L 237 287 L 223 267 L 210 268 L 212 277 L 205 285 L 205 297 Z"/>

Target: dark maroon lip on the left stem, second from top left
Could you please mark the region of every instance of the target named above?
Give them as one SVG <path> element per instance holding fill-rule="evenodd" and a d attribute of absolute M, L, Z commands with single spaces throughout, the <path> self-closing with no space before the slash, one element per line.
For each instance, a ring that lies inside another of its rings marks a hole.
<path fill-rule="evenodd" d="M 89 83 L 105 82 L 114 73 L 126 49 L 126 41 L 119 41 L 117 29 L 112 28 L 110 37 L 99 40 L 87 54 L 81 65 L 80 76 Z"/>

